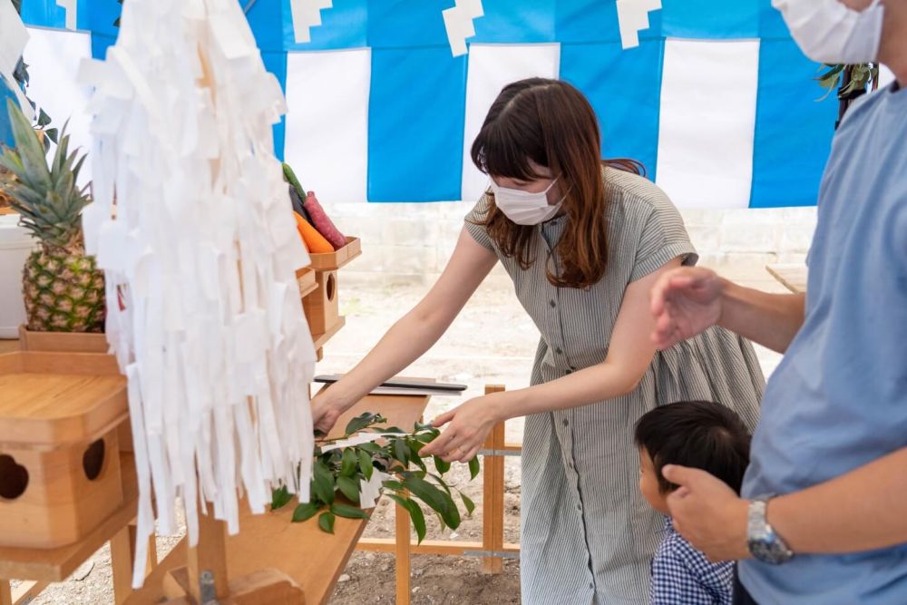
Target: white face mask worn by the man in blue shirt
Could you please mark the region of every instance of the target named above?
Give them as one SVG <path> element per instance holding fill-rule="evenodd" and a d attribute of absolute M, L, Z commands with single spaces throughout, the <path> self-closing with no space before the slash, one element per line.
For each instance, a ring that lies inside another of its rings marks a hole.
<path fill-rule="evenodd" d="M 884 6 L 873 0 L 862 12 L 840 0 L 772 0 L 796 44 L 820 63 L 869 63 L 878 59 Z"/>

